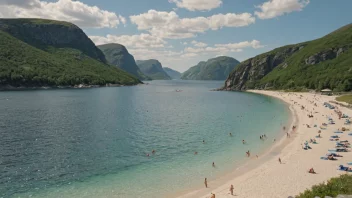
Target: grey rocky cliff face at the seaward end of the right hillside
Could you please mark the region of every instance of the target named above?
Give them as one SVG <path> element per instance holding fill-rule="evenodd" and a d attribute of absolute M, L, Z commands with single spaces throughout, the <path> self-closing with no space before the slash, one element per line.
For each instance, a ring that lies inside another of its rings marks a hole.
<path fill-rule="evenodd" d="M 287 63 L 284 63 L 285 60 L 303 48 L 304 45 L 282 47 L 241 62 L 227 78 L 223 89 L 246 90 L 265 88 L 265 86 L 256 87 L 256 82 L 282 63 L 284 68 L 287 67 Z"/>

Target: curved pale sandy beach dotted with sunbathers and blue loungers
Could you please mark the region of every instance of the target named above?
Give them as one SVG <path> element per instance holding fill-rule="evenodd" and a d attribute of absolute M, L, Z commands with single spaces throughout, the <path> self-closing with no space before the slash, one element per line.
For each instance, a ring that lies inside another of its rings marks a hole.
<path fill-rule="evenodd" d="M 340 164 L 347 166 L 347 162 L 352 162 L 352 152 L 339 153 L 343 157 L 338 158 L 336 161 L 320 159 L 321 156 L 325 156 L 328 153 L 328 149 L 334 149 L 335 147 L 335 142 L 329 140 L 330 136 L 339 135 L 341 137 L 340 140 L 352 142 L 352 136 L 348 135 L 351 131 L 343 134 L 334 133 L 334 131 L 342 127 L 352 129 L 352 125 L 344 125 L 345 119 L 339 120 L 334 110 L 323 106 L 324 102 L 334 100 L 334 97 L 314 95 L 312 93 L 251 92 L 277 97 L 290 105 L 292 113 L 295 114 L 293 124 L 297 126 L 295 132 L 292 132 L 291 127 L 289 128 L 291 138 L 285 137 L 277 141 L 267 154 L 259 156 L 259 158 L 267 158 L 268 160 L 256 168 L 248 171 L 240 168 L 236 171 L 242 171 L 243 173 L 239 173 L 238 176 L 233 176 L 226 180 L 219 178 L 216 181 L 208 181 L 207 189 L 201 188 L 189 192 L 180 198 L 208 198 L 211 192 L 215 193 L 217 198 L 233 197 L 229 194 L 231 184 L 235 188 L 235 197 L 282 198 L 298 195 L 315 184 L 322 183 L 331 177 L 345 174 L 345 172 L 339 171 L 337 168 Z M 300 98 L 300 95 L 303 97 Z M 310 101 L 314 101 L 317 107 Z M 294 102 L 298 104 L 294 104 Z M 305 110 L 301 110 L 301 105 L 305 106 Z M 342 113 L 352 116 L 352 110 L 343 107 L 338 108 Z M 313 112 L 313 118 L 308 118 L 307 115 L 310 112 Z M 322 138 L 315 138 L 318 135 L 321 124 L 328 123 L 327 115 L 334 119 L 335 125 L 328 125 L 326 130 L 321 130 Z M 307 128 L 306 124 L 309 124 L 311 128 Z M 317 125 L 316 128 L 314 124 Z M 310 140 L 310 138 L 315 138 L 318 144 L 309 144 L 312 149 L 303 150 L 301 144 L 306 140 Z M 278 162 L 279 157 L 283 164 Z M 256 163 L 256 160 L 259 163 L 262 159 L 253 158 L 251 160 L 252 163 Z M 311 167 L 314 168 L 317 174 L 309 174 L 307 172 Z M 233 173 L 229 173 L 229 175 L 231 174 Z M 199 182 L 203 183 L 203 181 Z"/>

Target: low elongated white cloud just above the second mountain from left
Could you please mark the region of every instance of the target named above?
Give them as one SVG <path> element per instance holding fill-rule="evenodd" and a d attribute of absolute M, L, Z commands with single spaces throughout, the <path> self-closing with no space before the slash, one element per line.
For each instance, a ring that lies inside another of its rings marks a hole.
<path fill-rule="evenodd" d="M 167 43 L 163 39 L 150 34 L 120 36 L 108 34 L 106 36 L 90 36 L 90 39 L 92 39 L 92 41 L 97 45 L 119 43 L 127 48 L 163 48 Z"/>

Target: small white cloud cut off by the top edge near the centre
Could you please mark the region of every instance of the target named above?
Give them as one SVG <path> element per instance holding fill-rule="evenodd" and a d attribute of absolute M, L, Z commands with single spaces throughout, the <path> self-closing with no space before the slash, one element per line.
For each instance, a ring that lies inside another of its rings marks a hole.
<path fill-rule="evenodd" d="M 176 3 L 179 8 L 187 10 L 211 10 L 220 7 L 222 0 L 169 0 L 170 3 Z"/>

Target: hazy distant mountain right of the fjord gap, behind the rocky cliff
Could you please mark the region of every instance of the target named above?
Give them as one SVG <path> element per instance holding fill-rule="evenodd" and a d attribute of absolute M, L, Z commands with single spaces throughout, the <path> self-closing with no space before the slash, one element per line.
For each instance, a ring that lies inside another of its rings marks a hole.
<path fill-rule="evenodd" d="M 181 79 L 183 80 L 225 80 L 229 73 L 239 64 L 239 61 L 227 57 L 219 56 L 208 61 L 199 62 L 196 66 L 185 71 Z"/>

